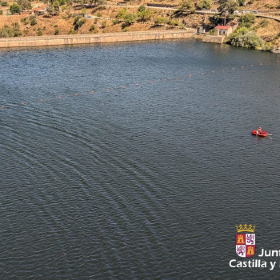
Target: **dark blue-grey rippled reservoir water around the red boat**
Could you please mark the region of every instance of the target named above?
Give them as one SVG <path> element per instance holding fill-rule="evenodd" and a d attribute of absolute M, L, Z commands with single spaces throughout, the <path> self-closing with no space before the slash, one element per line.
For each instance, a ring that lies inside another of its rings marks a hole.
<path fill-rule="evenodd" d="M 236 224 L 280 249 L 279 59 L 192 40 L 1 50 L 0 279 L 279 279 L 280 257 L 229 267 Z"/>

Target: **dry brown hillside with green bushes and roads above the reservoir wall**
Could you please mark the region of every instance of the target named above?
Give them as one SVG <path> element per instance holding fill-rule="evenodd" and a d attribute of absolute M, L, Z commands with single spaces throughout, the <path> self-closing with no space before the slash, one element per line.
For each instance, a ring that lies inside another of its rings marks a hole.
<path fill-rule="evenodd" d="M 0 37 L 234 27 L 223 42 L 280 50 L 280 0 L 0 0 Z M 205 31 L 205 33 L 204 33 Z"/>

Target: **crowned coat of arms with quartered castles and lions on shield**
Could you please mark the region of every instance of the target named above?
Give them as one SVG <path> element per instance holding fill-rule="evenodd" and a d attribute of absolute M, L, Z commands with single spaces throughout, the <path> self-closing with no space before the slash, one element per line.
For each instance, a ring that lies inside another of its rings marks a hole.
<path fill-rule="evenodd" d="M 239 257 L 252 257 L 256 252 L 256 235 L 254 233 L 256 226 L 240 224 L 235 227 L 237 230 L 235 235 L 237 255 Z"/>

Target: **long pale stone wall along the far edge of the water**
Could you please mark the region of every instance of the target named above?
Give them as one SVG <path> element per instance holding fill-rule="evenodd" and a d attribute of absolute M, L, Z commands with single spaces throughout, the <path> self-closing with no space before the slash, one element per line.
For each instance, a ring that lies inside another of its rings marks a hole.
<path fill-rule="evenodd" d="M 190 38 L 196 29 L 0 38 L 0 48 Z"/>

